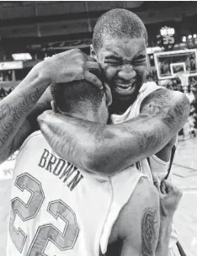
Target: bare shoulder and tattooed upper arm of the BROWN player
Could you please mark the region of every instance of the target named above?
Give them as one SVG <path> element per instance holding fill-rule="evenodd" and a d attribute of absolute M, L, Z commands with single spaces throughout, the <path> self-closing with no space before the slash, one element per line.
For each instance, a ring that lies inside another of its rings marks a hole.
<path fill-rule="evenodd" d="M 153 255 L 158 238 L 158 205 L 156 188 L 141 178 L 114 222 L 106 256 Z"/>

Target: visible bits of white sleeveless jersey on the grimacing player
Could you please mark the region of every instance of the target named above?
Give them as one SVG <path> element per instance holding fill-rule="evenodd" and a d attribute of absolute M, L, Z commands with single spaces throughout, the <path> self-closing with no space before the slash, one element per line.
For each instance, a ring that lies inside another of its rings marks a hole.
<path fill-rule="evenodd" d="M 122 115 L 111 115 L 111 122 L 113 124 L 120 124 L 127 120 L 130 120 L 138 115 L 140 115 L 141 102 L 146 96 L 158 89 L 166 89 L 160 86 L 157 86 L 156 83 L 144 83 L 139 91 L 138 97 L 136 101 L 130 105 L 128 109 L 126 109 L 125 113 Z M 178 138 L 177 138 L 178 141 Z M 162 161 L 157 156 L 150 157 L 150 163 L 148 163 L 147 159 L 140 161 L 140 170 L 144 173 L 149 180 L 152 181 L 152 173 L 157 176 L 165 176 L 168 173 L 168 162 Z M 169 175 L 169 181 L 172 182 L 172 175 Z M 122 205 L 124 206 L 124 205 Z M 171 239 L 169 243 L 169 248 L 172 248 L 178 240 L 177 232 L 173 227 L 173 232 L 171 234 Z M 171 250 L 171 249 L 170 249 Z M 169 250 L 169 255 L 173 255 Z"/>

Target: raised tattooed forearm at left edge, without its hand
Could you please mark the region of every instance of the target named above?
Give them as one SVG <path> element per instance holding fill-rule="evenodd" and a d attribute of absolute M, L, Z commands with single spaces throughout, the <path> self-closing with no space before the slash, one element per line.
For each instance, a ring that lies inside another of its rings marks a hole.
<path fill-rule="evenodd" d="M 29 122 L 32 120 L 31 111 L 49 85 L 49 81 L 42 79 L 39 67 L 37 65 L 33 72 L 29 72 L 18 87 L 0 102 L 0 163 L 16 151 L 33 131 Z"/>

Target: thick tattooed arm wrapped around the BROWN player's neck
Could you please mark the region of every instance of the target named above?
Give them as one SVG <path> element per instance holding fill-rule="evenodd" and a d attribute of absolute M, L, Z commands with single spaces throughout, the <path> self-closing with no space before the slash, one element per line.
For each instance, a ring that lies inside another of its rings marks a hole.
<path fill-rule="evenodd" d="M 159 152 L 189 116 L 184 93 L 158 90 L 141 106 L 138 117 L 118 125 L 48 112 L 39 118 L 40 130 L 61 157 L 90 171 L 111 174 Z"/>

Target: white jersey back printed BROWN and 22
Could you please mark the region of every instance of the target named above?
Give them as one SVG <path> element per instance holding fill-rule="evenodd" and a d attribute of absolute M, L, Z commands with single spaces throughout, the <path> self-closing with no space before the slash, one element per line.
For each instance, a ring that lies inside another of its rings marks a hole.
<path fill-rule="evenodd" d="M 13 172 L 7 256 L 99 256 L 111 200 L 107 177 L 61 159 L 35 132 Z"/>

